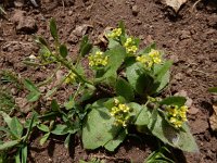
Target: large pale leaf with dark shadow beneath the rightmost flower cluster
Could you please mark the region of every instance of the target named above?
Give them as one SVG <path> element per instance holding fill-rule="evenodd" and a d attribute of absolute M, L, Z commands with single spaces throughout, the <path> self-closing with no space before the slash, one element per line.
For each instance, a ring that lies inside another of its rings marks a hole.
<path fill-rule="evenodd" d="M 152 134 L 163 142 L 182 151 L 199 152 L 199 148 L 187 124 L 183 124 L 183 129 L 177 130 L 171 127 L 159 114 L 157 114 L 154 126 L 152 124 L 153 123 L 151 122 L 148 127 Z"/>

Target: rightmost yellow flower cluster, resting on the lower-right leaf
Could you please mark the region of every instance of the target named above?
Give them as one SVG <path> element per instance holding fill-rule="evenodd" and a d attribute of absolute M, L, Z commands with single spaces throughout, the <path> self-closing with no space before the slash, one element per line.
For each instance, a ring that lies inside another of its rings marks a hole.
<path fill-rule="evenodd" d="M 188 106 L 186 105 L 180 108 L 178 105 L 168 105 L 166 108 L 168 120 L 176 128 L 180 128 L 187 122 L 187 110 Z"/>

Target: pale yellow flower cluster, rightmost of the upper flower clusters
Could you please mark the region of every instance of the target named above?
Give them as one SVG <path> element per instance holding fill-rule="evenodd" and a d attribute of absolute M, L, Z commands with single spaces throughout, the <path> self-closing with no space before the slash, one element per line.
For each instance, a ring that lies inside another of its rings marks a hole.
<path fill-rule="evenodd" d="M 151 49 L 149 54 L 137 57 L 137 61 L 150 68 L 153 64 L 159 64 L 162 62 L 161 52 L 158 50 Z"/>

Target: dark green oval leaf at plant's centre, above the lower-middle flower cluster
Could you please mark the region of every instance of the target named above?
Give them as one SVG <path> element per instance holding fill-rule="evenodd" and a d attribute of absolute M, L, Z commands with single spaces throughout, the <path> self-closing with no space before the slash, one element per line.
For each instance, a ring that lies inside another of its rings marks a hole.
<path fill-rule="evenodd" d="M 132 87 L 124 78 L 119 77 L 116 83 L 116 93 L 117 96 L 124 97 L 126 100 L 131 101 L 135 98 L 135 92 Z"/>

